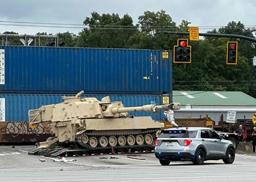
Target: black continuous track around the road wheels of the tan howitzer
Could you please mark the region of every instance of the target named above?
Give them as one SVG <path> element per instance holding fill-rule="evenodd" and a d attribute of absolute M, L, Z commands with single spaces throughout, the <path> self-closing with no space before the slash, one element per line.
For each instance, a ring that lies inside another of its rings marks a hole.
<path fill-rule="evenodd" d="M 143 132 L 115 133 L 115 134 L 83 133 L 83 134 L 81 134 L 77 137 L 77 142 L 79 143 L 79 145 L 81 145 L 85 149 L 90 149 L 90 150 L 108 150 L 108 149 L 112 149 L 112 148 L 114 148 L 114 149 L 141 148 L 141 149 L 143 149 L 143 148 L 152 147 L 152 144 L 151 145 L 147 145 L 147 144 L 144 144 L 144 145 L 125 145 L 125 146 L 115 146 L 115 147 L 111 147 L 111 146 L 108 146 L 108 147 L 91 147 L 90 145 L 83 143 L 82 138 L 83 138 L 84 135 L 87 135 L 88 137 L 90 137 L 90 136 L 121 136 L 121 135 L 128 136 L 128 135 L 139 135 L 139 134 L 151 134 L 153 136 L 153 139 L 155 139 L 154 134 L 156 134 L 157 131 L 158 131 L 158 129 L 148 130 L 148 131 L 143 131 Z"/>

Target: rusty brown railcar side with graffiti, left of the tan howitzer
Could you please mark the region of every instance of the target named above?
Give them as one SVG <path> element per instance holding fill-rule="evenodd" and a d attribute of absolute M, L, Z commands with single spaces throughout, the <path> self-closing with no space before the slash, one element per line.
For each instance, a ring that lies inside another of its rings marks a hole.
<path fill-rule="evenodd" d="M 27 121 L 0 122 L 0 142 L 42 142 L 51 137 L 49 123 L 28 127 Z"/>

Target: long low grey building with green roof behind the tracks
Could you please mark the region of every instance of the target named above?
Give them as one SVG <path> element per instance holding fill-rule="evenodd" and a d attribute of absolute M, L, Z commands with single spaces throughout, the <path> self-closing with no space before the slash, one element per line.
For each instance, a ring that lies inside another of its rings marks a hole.
<path fill-rule="evenodd" d="M 179 102 L 181 109 L 175 111 L 176 118 L 205 117 L 215 122 L 224 121 L 228 111 L 236 111 L 236 120 L 252 119 L 256 113 L 256 99 L 241 91 L 173 91 L 173 102 Z"/>

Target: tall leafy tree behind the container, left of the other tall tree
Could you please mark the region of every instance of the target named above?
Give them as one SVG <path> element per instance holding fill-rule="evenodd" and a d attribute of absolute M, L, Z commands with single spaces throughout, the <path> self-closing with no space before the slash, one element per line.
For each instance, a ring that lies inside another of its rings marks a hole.
<path fill-rule="evenodd" d="M 114 13 L 100 15 L 92 12 L 91 15 L 84 20 L 84 25 L 89 28 L 79 33 L 77 47 L 126 48 L 129 38 L 138 31 L 128 14 L 123 18 Z"/>

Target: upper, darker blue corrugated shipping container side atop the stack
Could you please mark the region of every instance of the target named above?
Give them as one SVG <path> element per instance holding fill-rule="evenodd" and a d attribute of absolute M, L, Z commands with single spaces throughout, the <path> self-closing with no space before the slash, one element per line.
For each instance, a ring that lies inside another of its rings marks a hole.
<path fill-rule="evenodd" d="M 161 94 L 172 91 L 172 62 L 160 50 L 0 46 L 2 93 Z"/>

